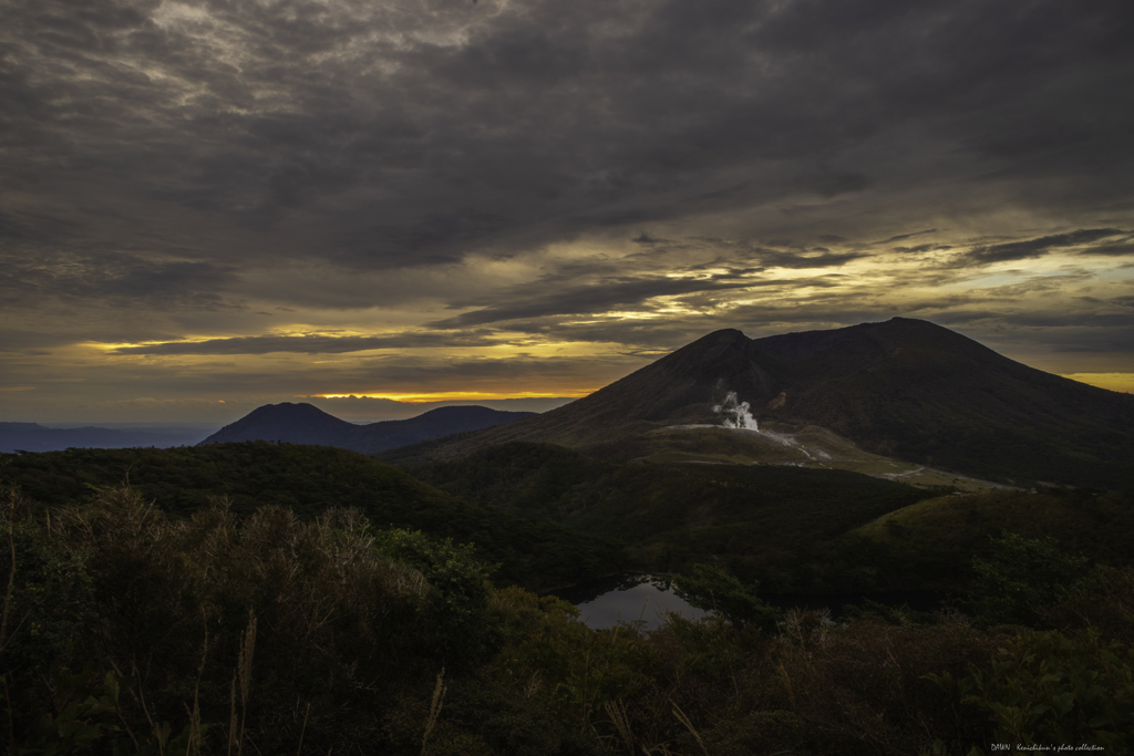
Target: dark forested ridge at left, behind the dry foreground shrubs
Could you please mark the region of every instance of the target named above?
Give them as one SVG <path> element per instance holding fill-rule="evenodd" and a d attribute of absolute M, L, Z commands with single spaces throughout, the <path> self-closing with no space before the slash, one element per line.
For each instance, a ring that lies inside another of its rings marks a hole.
<path fill-rule="evenodd" d="M 330 447 L 249 442 L 178 449 L 71 449 L 3 458 L 3 479 L 28 498 L 74 506 L 95 489 L 128 481 L 162 510 L 188 517 L 213 496 L 231 511 L 286 507 L 313 520 L 335 507 L 381 526 L 422 529 L 475 544 L 499 578 L 532 588 L 586 579 L 620 567 L 618 544 L 551 521 L 469 507 L 369 457 Z"/>

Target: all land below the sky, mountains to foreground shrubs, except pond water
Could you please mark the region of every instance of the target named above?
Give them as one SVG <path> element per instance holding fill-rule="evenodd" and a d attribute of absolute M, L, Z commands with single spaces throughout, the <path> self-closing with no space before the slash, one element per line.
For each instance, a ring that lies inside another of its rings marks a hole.
<path fill-rule="evenodd" d="M 10 742 L 219 753 L 238 712 L 261 753 L 1129 753 L 1132 459 L 1134 398 L 908 318 L 718 331 L 539 415 L 2 455 Z M 624 572 L 710 614 L 545 595 Z"/>

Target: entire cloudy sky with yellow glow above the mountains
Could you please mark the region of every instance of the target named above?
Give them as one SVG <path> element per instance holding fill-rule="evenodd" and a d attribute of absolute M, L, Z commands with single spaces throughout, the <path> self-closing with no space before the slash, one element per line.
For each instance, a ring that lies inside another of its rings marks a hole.
<path fill-rule="evenodd" d="M 1129 0 L 0 19 L 0 419 L 581 396 L 894 315 L 1134 387 Z"/>

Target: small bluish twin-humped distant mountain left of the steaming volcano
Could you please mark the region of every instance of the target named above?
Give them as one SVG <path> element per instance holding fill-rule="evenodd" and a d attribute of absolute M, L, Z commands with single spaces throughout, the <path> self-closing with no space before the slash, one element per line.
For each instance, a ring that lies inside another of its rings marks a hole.
<path fill-rule="evenodd" d="M 254 409 L 198 445 L 231 441 L 285 441 L 376 453 L 454 433 L 480 431 L 532 414 L 488 407 L 440 407 L 405 421 L 355 425 L 313 405 L 284 402 Z"/>

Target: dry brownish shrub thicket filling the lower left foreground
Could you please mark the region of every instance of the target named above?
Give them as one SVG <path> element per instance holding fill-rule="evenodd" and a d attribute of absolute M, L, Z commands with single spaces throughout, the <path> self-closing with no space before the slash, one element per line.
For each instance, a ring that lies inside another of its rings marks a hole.
<path fill-rule="evenodd" d="M 387 753 L 404 738 L 420 749 L 424 721 L 404 714 L 418 687 L 442 669 L 474 687 L 505 643 L 490 569 L 468 549 L 375 530 L 357 510 L 303 523 L 263 507 L 242 519 L 214 500 L 179 519 L 129 489 L 81 507 L 11 504 L 0 568 L 19 589 L 0 669 L 19 753 L 92 741 L 196 753 L 203 734 L 208 753 L 235 741 L 231 753 L 268 754 L 297 750 L 304 730 L 312 753 Z M 527 708 L 532 728 L 570 741 Z"/>

